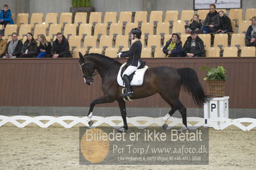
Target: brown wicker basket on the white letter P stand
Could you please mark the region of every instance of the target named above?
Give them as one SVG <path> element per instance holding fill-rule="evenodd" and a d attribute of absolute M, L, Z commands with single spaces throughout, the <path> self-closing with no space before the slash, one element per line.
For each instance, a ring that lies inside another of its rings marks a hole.
<path fill-rule="evenodd" d="M 224 97 L 225 96 L 225 81 L 207 81 L 206 82 L 207 95 L 209 97 Z"/>

